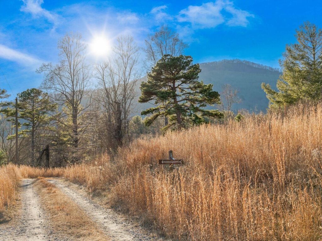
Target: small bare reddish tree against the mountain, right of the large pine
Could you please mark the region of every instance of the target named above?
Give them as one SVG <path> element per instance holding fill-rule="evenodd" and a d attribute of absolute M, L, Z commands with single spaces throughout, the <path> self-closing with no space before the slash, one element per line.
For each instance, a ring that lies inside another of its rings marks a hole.
<path fill-rule="evenodd" d="M 220 110 L 226 112 L 228 116 L 231 115 L 232 105 L 234 103 L 241 103 L 242 100 L 238 97 L 239 91 L 232 88 L 231 85 L 226 84 L 222 86 L 222 92 L 220 93 L 220 99 L 222 103 L 220 104 Z"/>

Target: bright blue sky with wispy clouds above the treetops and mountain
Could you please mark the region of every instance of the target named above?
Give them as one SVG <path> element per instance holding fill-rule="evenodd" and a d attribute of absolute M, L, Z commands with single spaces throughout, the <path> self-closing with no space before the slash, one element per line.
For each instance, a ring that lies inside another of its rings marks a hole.
<path fill-rule="evenodd" d="M 0 88 L 15 96 L 38 87 L 36 68 L 57 62 L 57 41 L 67 32 L 90 43 L 104 31 L 111 45 L 129 34 L 143 47 L 164 23 L 189 44 L 185 54 L 195 62 L 240 58 L 279 67 L 298 26 L 308 20 L 322 27 L 321 13 L 320 0 L 0 0 Z"/>

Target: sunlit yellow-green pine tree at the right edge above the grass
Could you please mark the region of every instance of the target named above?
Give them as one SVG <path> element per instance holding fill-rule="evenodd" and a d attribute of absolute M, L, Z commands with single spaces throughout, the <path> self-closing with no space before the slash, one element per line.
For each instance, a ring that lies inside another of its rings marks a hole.
<path fill-rule="evenodd" d="M 281 107 L 300 100 L 322 97 L 322 30 L 305 22 L 296 31 L 297 43 L 286 45 L 280 66 L 283 74 L 277 80 L 278 91 L 262 83 L 270 107 Z"/>

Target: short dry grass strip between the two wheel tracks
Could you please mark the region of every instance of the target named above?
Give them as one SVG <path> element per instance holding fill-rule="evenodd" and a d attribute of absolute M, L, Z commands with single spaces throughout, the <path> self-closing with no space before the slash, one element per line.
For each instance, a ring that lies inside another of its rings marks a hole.
<path fill-rule="evenodd" d="M 73 240 L 109 240 L 95 223 L 66 194 L 40 178 L 36 184 L 41 203 L 51 216 L 52 228 Z"/>

